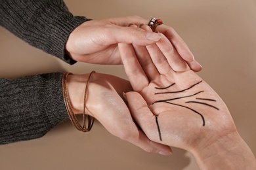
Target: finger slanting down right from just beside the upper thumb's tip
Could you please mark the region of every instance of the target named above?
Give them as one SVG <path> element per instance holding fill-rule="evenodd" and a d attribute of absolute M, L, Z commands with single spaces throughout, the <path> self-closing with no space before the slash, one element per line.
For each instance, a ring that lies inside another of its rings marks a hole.
<path fill-rule="evenodd" d="M 167 37 L 161 35 L 160 41 L 156 42 L 156 44 L 167 59 L 173 71 L 184 72 L 190 69 Z"/>

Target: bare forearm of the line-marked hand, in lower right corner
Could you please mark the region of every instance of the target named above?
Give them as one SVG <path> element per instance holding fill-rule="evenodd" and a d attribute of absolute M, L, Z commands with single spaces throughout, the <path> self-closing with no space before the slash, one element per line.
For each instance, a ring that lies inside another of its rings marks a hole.
<path fill-rule="evenodd" d="M 256 169 L 253 152 L 237 132 L 193 154 L 200 169 Z"/>

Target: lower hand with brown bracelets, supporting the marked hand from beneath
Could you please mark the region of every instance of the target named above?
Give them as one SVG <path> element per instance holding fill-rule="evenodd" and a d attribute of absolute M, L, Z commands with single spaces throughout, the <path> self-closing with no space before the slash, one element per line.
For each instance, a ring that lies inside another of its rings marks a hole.
<path fill-rule="evenodd" d="M 83 112 L 87 75 L 68 76 L 68 93 L 74 112 Z M 171 148 L 152 142 L 138 129 L 123 101 L 123 92 L 131 91 L 129 81 L 117 76 L 94 73 L 89 80 L 87 114 L 95 117 L 112 135 L 133 143 L 147 152 L 171 154 Z"/>

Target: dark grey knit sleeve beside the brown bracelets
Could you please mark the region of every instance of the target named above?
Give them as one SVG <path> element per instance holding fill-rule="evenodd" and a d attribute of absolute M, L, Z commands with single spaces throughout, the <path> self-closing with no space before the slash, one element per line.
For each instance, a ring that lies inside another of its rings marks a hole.
<path fill-rule="evenodd" d="M 0 144 L 42 137 L 68 120 L 62 73 L 0 79 Z"/>

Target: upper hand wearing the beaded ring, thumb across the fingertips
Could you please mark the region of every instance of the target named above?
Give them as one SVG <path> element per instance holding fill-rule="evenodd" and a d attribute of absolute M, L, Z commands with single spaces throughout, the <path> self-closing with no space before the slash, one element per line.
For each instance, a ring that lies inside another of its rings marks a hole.
<path fill-rule="evenodd" d="M 117 46 L 118 42 L 145 46 L 160 41 L 161 35 L 159 33 L 153 33 L 151 29 L 127 27 L 129 24 L 148 24 L 148 20 L 139 16 L 128 16 L 85 22 L 70 34 L 66 43 L 66 53 L 75 61 L 122 64 Z M 192 52 L 181 37 L 173 28 L 167 25 L 160 26 L 159 31 L 166 34 L 169 44 L 173 44 L 169 46 L 169 50 L 175 48 L 175 53 L 179 55 L 179 58 L 184 59 L 194 71 L 200 71 L 202 67 L 194 60 Z"/>

